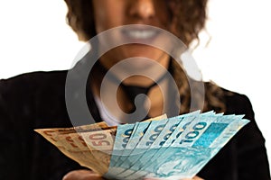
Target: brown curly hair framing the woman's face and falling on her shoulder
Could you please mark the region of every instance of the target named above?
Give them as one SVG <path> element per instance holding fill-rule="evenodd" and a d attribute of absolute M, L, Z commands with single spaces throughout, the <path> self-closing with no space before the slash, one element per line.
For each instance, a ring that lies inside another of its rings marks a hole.
<path fill-rule="evenodd" d="M 68 5 L 67 23 L 75 31 L 79 40 L 87 41 L 96 35 L 91 0 L 65 0 Z M 207 14 L 207 0 L 167 0 L 172 32 L 188 47 L 192 40 L 199 41 L 199 32 L 204 28 Z M 173 60 L 173 78 L 175 79 L 182 99 L 180 113 L 190 110 L 190 85 L 184 69 Z M 195 83 L 194 85 L 196 85 Z M 226 105 L 223 102 L 223 91 L 214 83 L 205 84 L 205 101 L 203 111 L 214 109 L 217 112 L 225 112 Z"/>

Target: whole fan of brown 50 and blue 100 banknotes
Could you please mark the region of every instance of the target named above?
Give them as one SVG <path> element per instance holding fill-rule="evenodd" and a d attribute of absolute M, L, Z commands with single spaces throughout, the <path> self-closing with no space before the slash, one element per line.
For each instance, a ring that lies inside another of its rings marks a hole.
<path fill-rule="evenodd" d="M 99 122 L 36 130 L 63 154 L 107 179 L 191 178 L 248 120 L 191 112 L 109 127 Z"/>

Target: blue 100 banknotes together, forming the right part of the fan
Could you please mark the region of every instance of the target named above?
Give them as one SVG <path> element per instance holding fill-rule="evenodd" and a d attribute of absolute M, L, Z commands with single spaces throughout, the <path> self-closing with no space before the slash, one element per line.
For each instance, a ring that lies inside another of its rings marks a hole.
<path fill-rule="evenodd" d="M 191 178 L 248 123 L 242 118 L 243 115 L 192 112 L 162 121 L 122 125 L 117 133 L 122 137 L 116 137 L 105 177 Z M 124 141 L 125 138 L 128 139 Z"/>

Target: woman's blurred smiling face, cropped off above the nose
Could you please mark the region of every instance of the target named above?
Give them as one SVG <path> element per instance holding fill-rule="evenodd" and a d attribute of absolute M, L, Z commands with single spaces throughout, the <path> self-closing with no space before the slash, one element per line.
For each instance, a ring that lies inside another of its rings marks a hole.
<path fill-rule="evenodd" d="M 151 25 L 169 31 L 171 21 L 166 0 L 93 0 L 93 6 L 97 33 L 128 24 Z M 157 39 L 155 37 L 157 35 L 152 30 L 144 27 L 131 29 L 118 35 L 126 36 L 126 38 L 128 36 L 139 42 Z M 112 36 L 110 40 L 117 40 L 121 38 L 119 36 Z M 164 67 L 167 67 L 169 62 L 169 56 L 163 50 L 141 43 L 112 49 L 100 60 L 105 67 L 109 68 L 120 60 L 133 57 L 150 58 Z"/>

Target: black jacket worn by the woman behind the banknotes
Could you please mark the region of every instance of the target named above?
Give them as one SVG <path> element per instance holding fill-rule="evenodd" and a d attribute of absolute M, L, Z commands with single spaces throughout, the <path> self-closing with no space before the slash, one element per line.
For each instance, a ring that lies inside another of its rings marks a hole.
<path fill-rule="evenodd" d="M 67 71 L 35 72 L 0 81 L 0 179 L 60 180 L 82 168 L 34 129 L 71 127 L 65 104 Z M 225 92 L 227 92 L 225 90 Z M 91 114 L 101 121 L 92 94 Z M 209 180 L 267 180 L 265 139 L 254 120 L 248 97 L 226 95 L 227 112 L 246 114 L 248 123 L 199 176 Z"/>

